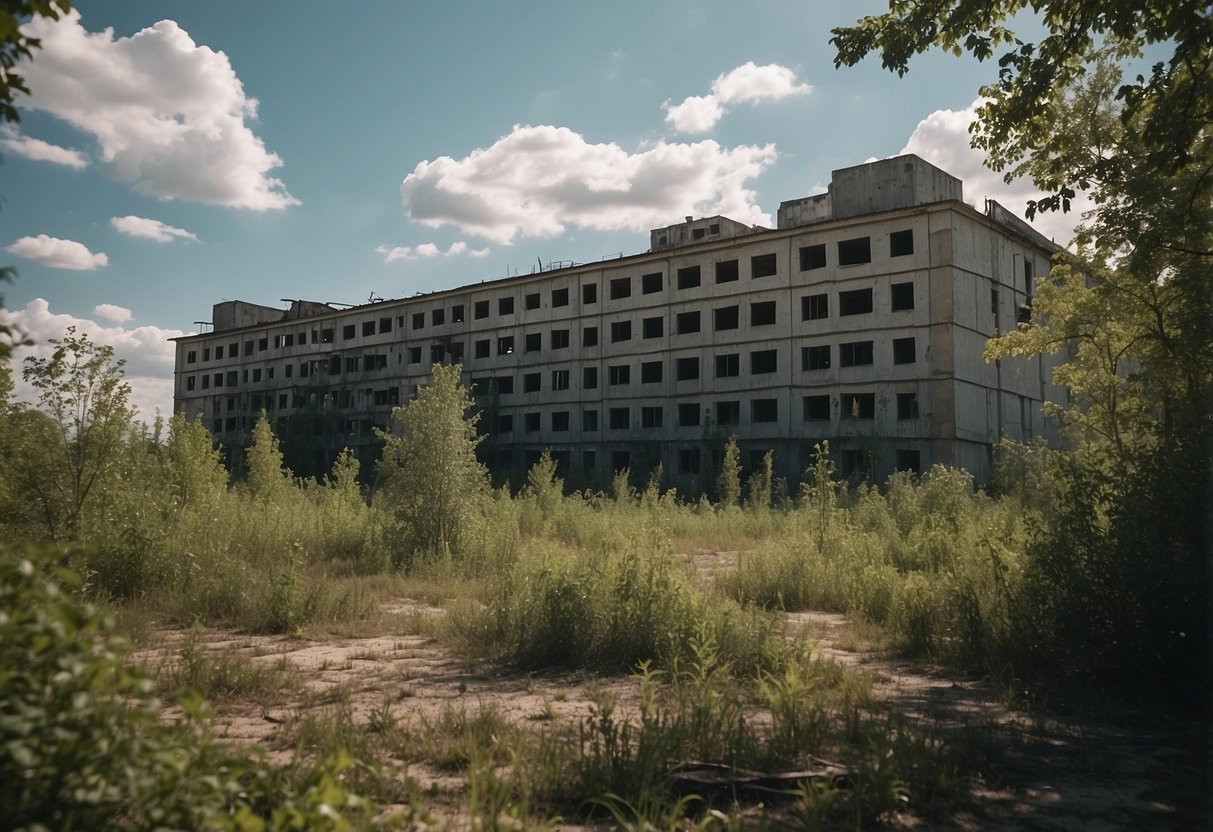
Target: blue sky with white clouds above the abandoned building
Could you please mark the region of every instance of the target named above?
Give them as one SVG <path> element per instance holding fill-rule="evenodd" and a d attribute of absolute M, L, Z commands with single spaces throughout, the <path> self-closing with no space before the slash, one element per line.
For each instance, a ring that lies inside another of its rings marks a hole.
<path fill-rule="evenodd" d="M 135 2 L 39 22 L 0 135 L 0 291 L 75 324 L 144 417 L 211 304 L 357 303 L 648 247 L 684 215 L 771 222 L 836 167 L 918 152 L 1021 207 L 966 126 L 993 64 L 833 68 L 884 4 Z M 1065 223 L 1042 228 L 1064 235 Z"/>

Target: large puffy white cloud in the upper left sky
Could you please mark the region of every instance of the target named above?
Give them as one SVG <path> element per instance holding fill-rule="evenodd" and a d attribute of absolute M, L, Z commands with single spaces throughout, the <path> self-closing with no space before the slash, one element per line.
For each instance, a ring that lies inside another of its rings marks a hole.
<path fill-rule="evenodd" d="M 173 21 L 115 38 L 87 32 L 72 11 L 22 32 L 42 41 L 23 68 L 33 93 L 23 103 L 92 133 L 115 179 L 149 196 L 255 211 L 298 203 L 269 176 L 283 160 L 249 127 L 257 99 L 227 55 Z"/>

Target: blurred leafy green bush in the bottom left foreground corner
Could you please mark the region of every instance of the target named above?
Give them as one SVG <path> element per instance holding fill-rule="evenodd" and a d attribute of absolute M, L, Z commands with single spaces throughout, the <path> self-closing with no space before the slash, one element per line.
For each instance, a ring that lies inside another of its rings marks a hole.
<path fill-rule="evenodd" d="M 160 720 L 113 622 L 69 594 L 67 553 L 0 549 L 0 817 L 10 828 L 346 830 L 374 807 L 332 758 L 274 768 L 216 745 L 201 699 Z"/>

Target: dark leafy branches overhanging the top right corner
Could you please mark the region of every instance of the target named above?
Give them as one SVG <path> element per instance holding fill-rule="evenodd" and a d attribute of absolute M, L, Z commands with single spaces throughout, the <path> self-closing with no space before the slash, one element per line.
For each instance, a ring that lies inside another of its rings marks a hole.
<path fill-rule="evenodd" d="M 1020 40 L 1008 22 L 1029 10 L 1047 29 L 1040 42 Z M 981 87 L 984 102 L 970 127 L 974 147 L 985 149 L 995 170 L 1065 141 L 1050 108 L 1058 91 L 1087 72 L 1087 57 L 1105 46 L 1116 57 L 1140 57 L 1147 46 L 1171 47 L 1171 57 L 1118 91 L 1126 124 L 1139 127 L 1139 165 L 1174 172 L 1206 158 L 1213 136 L 1213 19 L 1207 0 L 894 0 L 884 15 L 833 30 L 836 65 L 854 65 L 878 52 L 882 65 L 906 74 L 910 59 L 932 49 L 993 58 L 998 78 Z M 1126 159 L 1106 159 L 1124 170 Z M 1014 175 L 1014 171 L 1012 172 Z M 1076 188 L 1087 188 L 1081 169 L 1059 167 L 1038 183 L 1049 192 L 1042 207 L 1067 207 Z M 1110 177 L 1109 177 L 1110 178 Z"/>

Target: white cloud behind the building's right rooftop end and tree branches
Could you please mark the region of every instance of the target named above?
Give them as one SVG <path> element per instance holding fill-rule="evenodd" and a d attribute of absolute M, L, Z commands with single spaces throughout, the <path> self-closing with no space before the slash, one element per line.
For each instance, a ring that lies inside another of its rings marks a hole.
<path fill-rule="evenodd" d="M 918 122 L 901 153 L 922 156 L 961 179 L 964 183 L 964 200 L 978 209 L 985 210 L 985 199 L 990 198 L 1025 218 L 1027 200 L 1040 199 L 1043 194 L 1027 178 L 1010 184 L 1003 182 L 1002 173 L 985 166 L 985 153 L 969 146 L 969 125 L 976 118 L 980 104 L 978 99 L 964 109 L 935 110 Z M 1090 207 L 1090 200 L 1078 194 L 1067 213 L 1037 213 L 1031 224 L 1058 245 L 1067 245 L 1082 212 Z"/>

